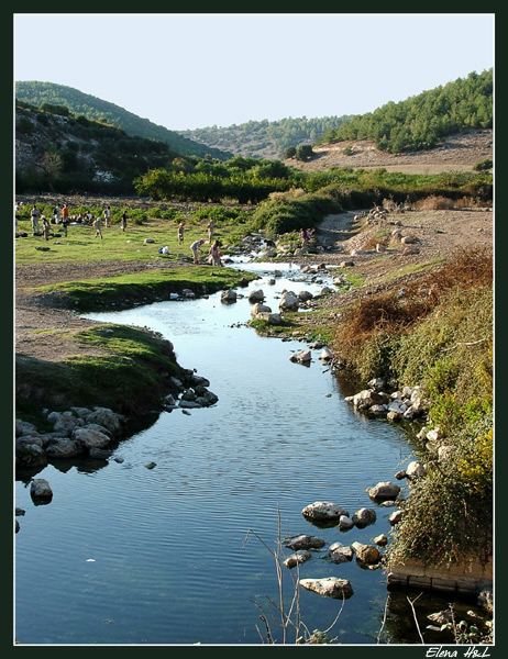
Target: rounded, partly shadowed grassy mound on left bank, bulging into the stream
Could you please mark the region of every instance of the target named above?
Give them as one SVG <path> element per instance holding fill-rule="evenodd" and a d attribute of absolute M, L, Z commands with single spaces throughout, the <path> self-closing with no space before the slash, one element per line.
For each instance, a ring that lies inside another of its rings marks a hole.
<path fill-rule="evenodd" d="M 122 414 L 158 407 L 178 366 L 170 342 L 123 325 L 93 325 L 67 332 L 89 355 L 48 362 L 16 360 L 16 415 L 37 420 L 41 407 L 67 410 L 98 403 Z M 38 427 L 38 420 L 37 420 Z"/>

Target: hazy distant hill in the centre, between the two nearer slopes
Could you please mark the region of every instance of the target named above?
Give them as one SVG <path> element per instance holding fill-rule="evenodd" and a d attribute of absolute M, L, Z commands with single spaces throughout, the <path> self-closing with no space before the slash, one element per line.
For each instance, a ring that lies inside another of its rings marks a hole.
<path fill-rule="evenodd" d="M 283 159 L 290 146 L 313 144 L 324 133 L 352 116 L 324 116 L 322 119 L 281 119 L 280 121 L 249 121 L 229 127 L 209 126 L 192 131 L 178 131 L 180 135 L 213 148 L 233 152 L 238 156 L 264 159 Z"/>

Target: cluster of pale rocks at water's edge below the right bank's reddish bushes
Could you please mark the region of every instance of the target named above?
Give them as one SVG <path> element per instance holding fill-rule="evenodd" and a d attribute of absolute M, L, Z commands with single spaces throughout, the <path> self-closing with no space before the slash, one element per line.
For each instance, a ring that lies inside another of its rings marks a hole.
<path fill-rule="evenodd" d="M 368 382 L 369 389 L 363 389 L 354 395 L 345 396 L 347 403 L 368 416 L 384 417 L 388 421 L 412 421 L 427 415 L 429 403 L 422 396 L 420 387 L 404 387 L 401 391 L 386 393 L 385 381 L 375 378 Z"/>

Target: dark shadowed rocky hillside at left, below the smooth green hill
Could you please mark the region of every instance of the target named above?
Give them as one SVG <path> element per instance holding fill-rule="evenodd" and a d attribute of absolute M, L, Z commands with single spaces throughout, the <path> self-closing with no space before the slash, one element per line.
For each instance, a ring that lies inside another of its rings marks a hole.
<path fill-rule="evenodd" d="M 16 192 L 134 194 L 133 179 L 148 169 L 192 166 L 164 142 L 128 135 L 85 116 L 15 108 Z"/>

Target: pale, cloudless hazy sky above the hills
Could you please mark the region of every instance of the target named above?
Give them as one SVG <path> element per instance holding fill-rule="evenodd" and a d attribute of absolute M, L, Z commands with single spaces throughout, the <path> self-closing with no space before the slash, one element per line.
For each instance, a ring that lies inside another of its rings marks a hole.
<path fill-rule="evenodd" d="M 14 13 L 14 80 L 74 87 L 170 130 L 363 114 L 494 66 L 494 13 Z"/>

